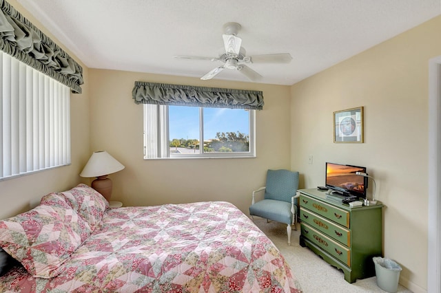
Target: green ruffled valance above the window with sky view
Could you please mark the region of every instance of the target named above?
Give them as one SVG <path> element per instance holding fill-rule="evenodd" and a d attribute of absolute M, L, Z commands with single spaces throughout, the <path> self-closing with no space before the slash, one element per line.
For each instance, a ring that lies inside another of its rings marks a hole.
<path fill-rule="evenodd" d="M 245 89 L 221 89 L 135 81 L 132 98 L 136 104 L 263 109 L 262 91 Z"/>

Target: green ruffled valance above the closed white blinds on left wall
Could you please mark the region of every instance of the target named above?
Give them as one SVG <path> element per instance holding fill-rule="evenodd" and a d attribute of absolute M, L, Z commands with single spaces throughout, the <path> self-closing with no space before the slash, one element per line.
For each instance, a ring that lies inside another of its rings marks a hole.
<path fill-rule="evenodd" d="M 0 50 L 81 93 L 83 68 L 4 0 L 0 0 Z"/>

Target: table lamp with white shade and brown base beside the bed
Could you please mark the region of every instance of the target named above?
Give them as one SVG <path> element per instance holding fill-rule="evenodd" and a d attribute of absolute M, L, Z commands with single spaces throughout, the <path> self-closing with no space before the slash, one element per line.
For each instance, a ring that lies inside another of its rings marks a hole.
<path fill-rule="evenodd" d="M 112 197 L 112 180 L 107 175 L 121 171 L 125 168 L 123 164 L 118 162 L 107 151 L 95 151 L 92 153 L 88 164 L 85 164 L 81 177 L 96 177 L 92 181 L 91 187 L 98 191 L 110 202 Z"/>

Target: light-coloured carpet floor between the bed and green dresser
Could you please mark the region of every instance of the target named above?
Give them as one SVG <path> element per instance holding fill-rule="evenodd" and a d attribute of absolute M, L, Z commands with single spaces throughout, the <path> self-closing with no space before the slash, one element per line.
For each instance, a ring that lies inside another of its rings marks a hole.
<path fill-rule="evenodd" d="M 309 248 L 302 248 L 298 243 L 300 225 L 298 230 L 292 231 L 291 246 L 287 243 L 287 230 L 285 224 L 254 217 L 254 224 L 274 242 L 283 257 L 289 263 L 292 272 L 300 282 L 305 293 L 316 292 L 385 292 L 377 285 L 376 276 L 357 280 L 350 284 L 345 281 L 344 274 L 323 261 Z M 411 292 L 407 288 L 398 285 L 398 292 Z"/>

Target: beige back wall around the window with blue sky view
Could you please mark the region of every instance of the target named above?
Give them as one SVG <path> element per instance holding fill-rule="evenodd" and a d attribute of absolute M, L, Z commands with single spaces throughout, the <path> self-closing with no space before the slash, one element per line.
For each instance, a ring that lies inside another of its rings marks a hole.
<path fill-rule="evenodd" d="M 265 106 L 256 112 L 257 158 L 143 160 L 143 106 L 132 99 L 136 80 L 263 91 Z M 225 200 L 248 213 L 252 190 L 265 185 L 267 169 L 289 169 L 287 86 L 99 69 L 90 69 L 90 84 L 91 149 L 104 149 L 125 165 L 110 177 L 112 199 L 126 206 Z"/>

